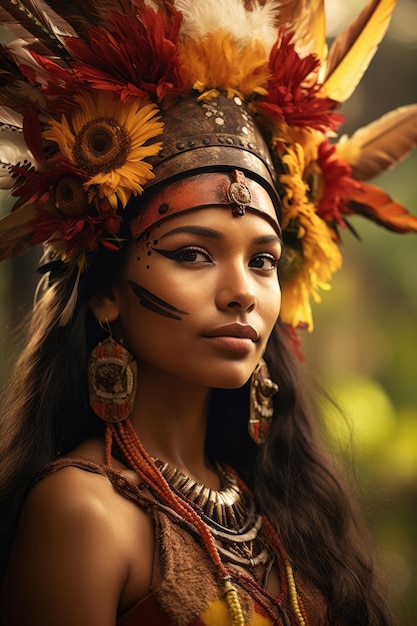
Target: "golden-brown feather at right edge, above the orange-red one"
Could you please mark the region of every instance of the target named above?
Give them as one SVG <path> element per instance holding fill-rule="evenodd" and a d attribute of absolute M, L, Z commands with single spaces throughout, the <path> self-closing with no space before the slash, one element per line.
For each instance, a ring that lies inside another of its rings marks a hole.
<path fill-rule="evenodd" d="M 357 130 L 338 146 L 356 180 L 394 167 L 417 146 L 417 104 L 403 106 Z"/>

